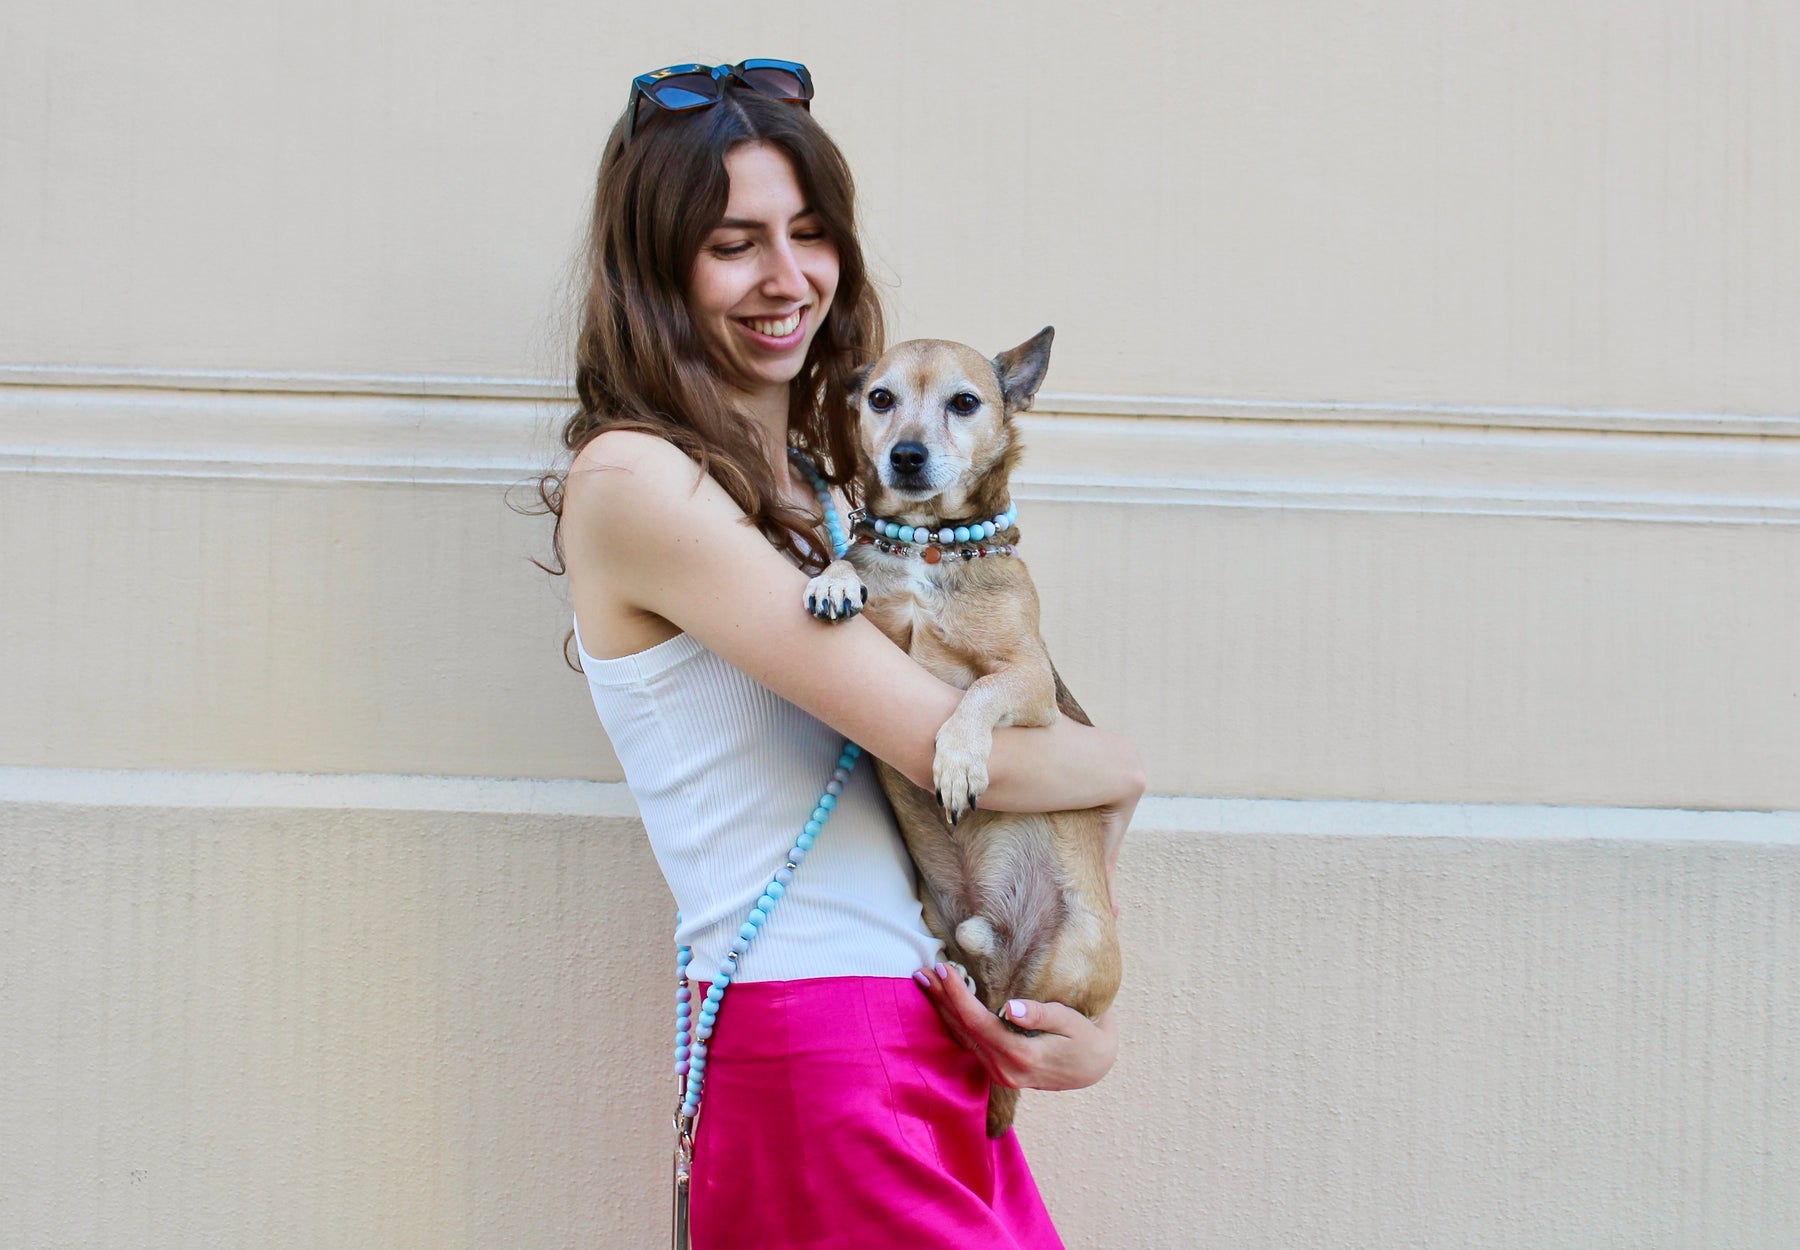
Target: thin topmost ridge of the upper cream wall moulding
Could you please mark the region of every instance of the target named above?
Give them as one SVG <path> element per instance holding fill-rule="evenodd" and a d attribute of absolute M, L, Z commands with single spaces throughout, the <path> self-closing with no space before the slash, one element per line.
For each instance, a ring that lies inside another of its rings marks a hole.
<path fill-rule="evenodd" d="M 0 364 L 0 387 L 367 394 L 571 403 L 574 387 L 554 378 L 401 373 L 281 373 L 254 369 L 133 369 L 110 366 Z M 1337 421 L 1372 425 L 1483 425 L 1530 430 L 1733 434 L 1800 438 L 1800 412 L 1674 412 L 1501 403 L 1393 403 L 1184 394 L 1046 391 L 1039 414 L 1165 416 L 1235 421 Z"/>

